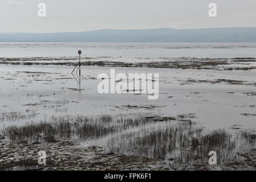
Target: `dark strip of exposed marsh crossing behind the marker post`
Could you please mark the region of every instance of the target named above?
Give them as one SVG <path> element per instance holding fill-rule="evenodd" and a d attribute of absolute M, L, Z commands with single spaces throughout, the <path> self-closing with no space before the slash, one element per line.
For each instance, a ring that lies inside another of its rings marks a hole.
<path fill-rule="evenodd" d="M 77 63 L 76 57 L 0 57 L 0 64 L 14 65 L 72 65 Z M 109 59 L 109 57 L 108 57 Z M 214 70 L 243 70 L 256 69 L 256 58 L 234 57 L 228 58 L 199 58 L 199 57 L 136 57 L 141 62 L 113 61 L 105 57 L 83 57 L 81 65 L 98 67 L 134 67 L 134 68 L 176 68 L 176 69 L 214 69 Z"/>

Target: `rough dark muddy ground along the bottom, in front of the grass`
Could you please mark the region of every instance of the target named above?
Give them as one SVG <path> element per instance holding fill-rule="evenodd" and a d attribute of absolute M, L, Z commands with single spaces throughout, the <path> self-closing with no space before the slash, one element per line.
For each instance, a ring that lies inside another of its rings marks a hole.
<path fill-rule="evenodd" d="M 101 147 L 85 146 L 71 140 L 30 143 L 28 140 L 0 144 L 0 170 L 256 170 L 256 150 L 239 152 L 242 162 L 194 168 L 174 168 L 139 156 L 104 154 Z M 45 151 L 46 165 L 38 164 L 38 152 Z"/>

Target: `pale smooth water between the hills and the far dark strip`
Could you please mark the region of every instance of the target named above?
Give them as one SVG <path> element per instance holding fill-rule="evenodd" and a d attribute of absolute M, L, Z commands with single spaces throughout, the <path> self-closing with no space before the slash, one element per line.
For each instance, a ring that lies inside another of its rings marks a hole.
<path fill-rule="evenodd" d="M 256 57 L 256 43 L 0 43 L 0 57 Z"/>

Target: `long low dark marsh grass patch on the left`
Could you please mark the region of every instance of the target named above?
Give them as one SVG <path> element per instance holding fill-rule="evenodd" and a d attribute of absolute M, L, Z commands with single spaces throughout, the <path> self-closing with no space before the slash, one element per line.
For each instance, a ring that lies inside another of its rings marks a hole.
<path fill-rule="evenodd" d="M 49 137 L 67 139 L 96 139 L 105 135 L 118 133 L 130 127 L 146 125 L 146 118 L 124 118 L 121 116 L 100 115 L 86 117 L 84 115 L 52 116 L 49 121 L 27 123 L 23 126 L 8 126 L 1 130 L 1 134 L 10 140 L 42 140 Z"/>

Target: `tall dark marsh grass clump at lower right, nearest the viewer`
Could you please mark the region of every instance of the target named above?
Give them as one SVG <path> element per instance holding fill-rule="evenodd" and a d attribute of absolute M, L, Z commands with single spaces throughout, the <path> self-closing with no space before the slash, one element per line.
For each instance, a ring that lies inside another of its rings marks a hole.
<path fill-rule="evenodd" d="M 236 155 L 238 149 L 250 150 L 256 147 L 251 140 L 254 135 L 247 131 L 243 131 L 242 135 L 234 137 L 224 129 L 209 132 L 196 123 L 179 121 L 174 125 L 147 128 L 113 137 L 109 140 L 108 151 L 151 159 L 172 159 L 171 166 L 208 163 L 209 152 L 216 151 L 217 163 L 222 164 L 239 161 L 240 158 Z M 245 136 L 248 136 L 247 142 Z"/>

